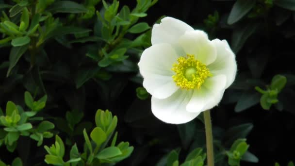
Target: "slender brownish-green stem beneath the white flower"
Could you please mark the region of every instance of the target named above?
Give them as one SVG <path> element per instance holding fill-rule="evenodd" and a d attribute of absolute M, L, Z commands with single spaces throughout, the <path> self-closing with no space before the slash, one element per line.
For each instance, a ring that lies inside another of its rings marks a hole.
<path fill-rule="evenodd" d="M 214 166 L 213 135 L 210 110 L 204 111 L 204 120 L 206 131 L 207 166 Z"/>

